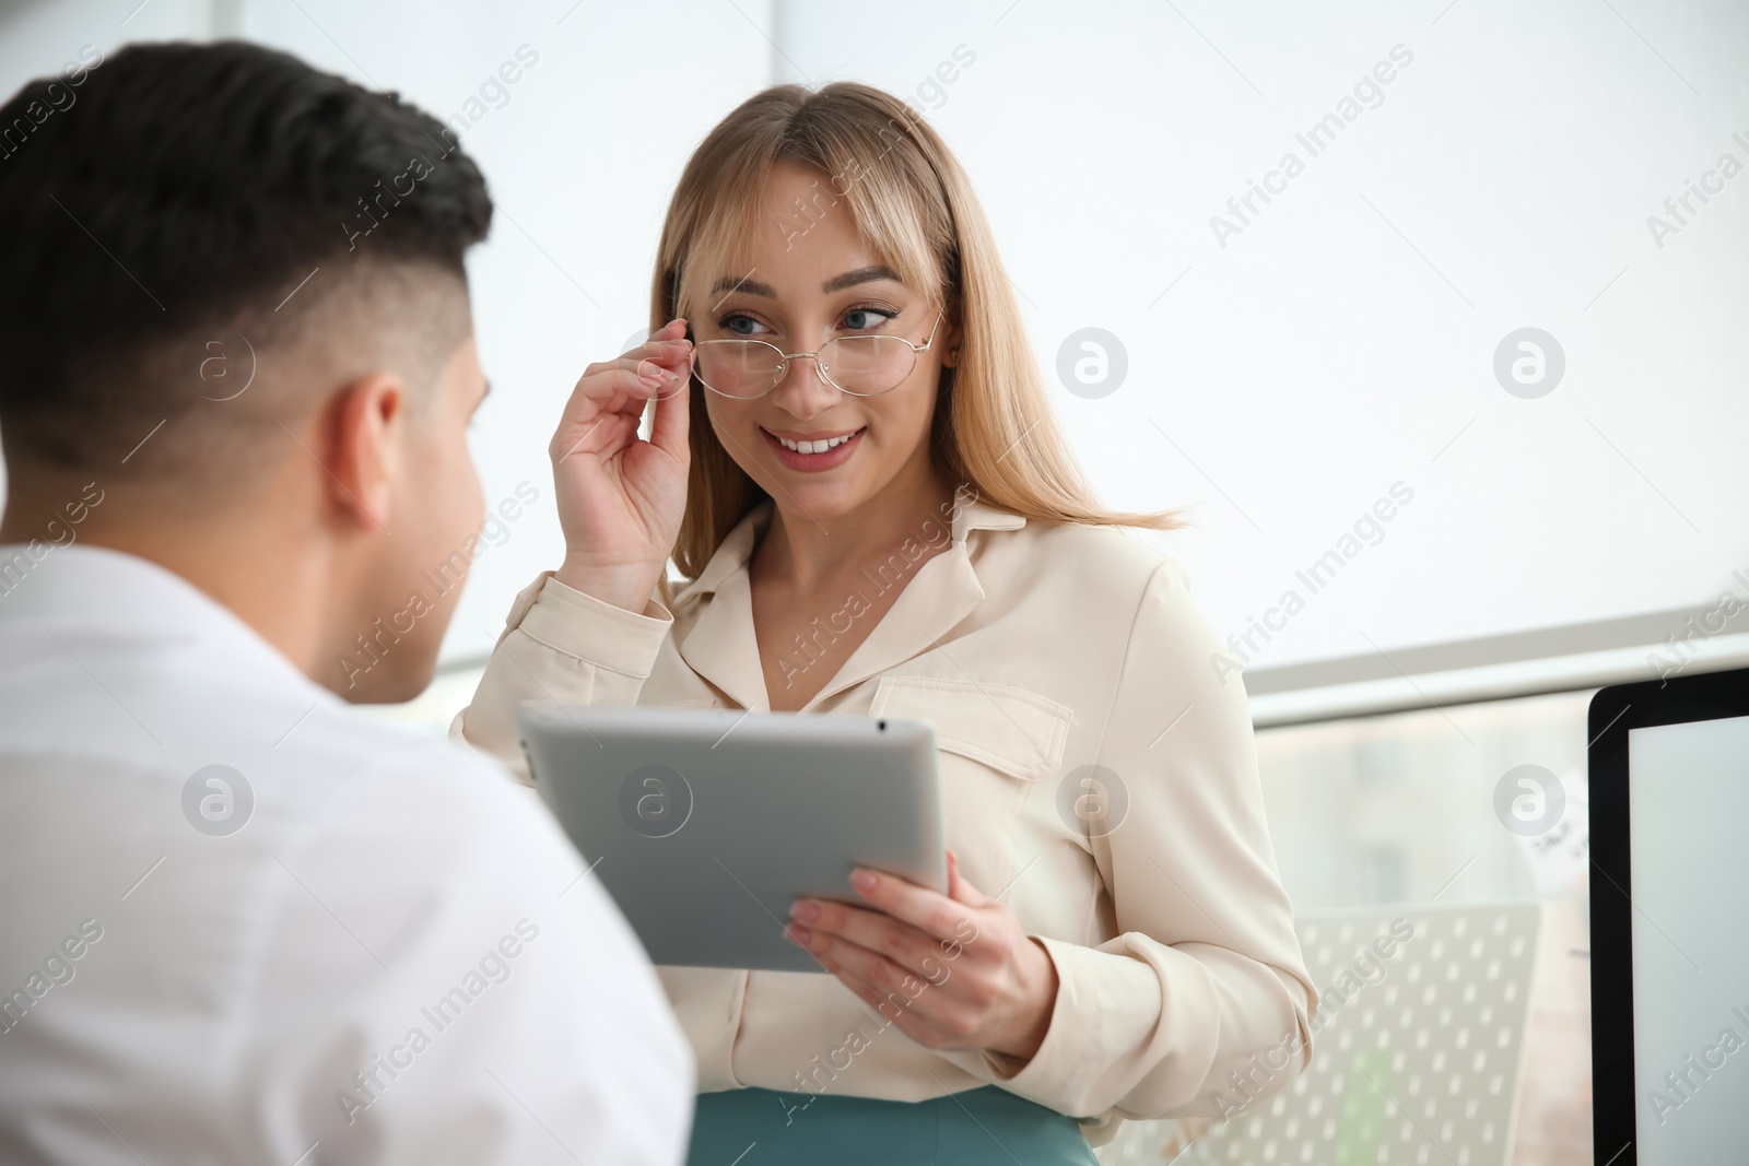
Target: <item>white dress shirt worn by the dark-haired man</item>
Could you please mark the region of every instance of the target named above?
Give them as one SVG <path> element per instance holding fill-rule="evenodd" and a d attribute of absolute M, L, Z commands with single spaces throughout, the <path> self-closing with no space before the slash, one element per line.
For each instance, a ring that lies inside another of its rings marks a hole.
<path fill-rule="evenodd" d="M 0 1161 L 684 1157 L 691 1054 L 547 813 L 140 558 L 0 547 Z"/>

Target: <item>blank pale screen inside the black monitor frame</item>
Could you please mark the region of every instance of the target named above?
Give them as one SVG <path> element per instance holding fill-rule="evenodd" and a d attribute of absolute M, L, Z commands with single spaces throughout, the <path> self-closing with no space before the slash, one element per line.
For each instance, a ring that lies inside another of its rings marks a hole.
<path fill-rule="evenodd" d="M 1639 1164 L 1742 1161 L 1749 717 L 1630 729 L 1628 811 Z"/>

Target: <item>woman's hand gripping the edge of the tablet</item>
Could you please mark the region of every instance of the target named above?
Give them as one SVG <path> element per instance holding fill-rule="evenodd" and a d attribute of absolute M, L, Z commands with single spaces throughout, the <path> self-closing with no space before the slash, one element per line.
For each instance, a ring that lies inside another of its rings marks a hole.
<path fill-rule="evenodd" d="M 787 933 L 911 1040 L 1030 1059 L 1056 1003 L 1056 965 L 1009 909 L 960 876 L 948 893 L 857 867 L 869 904 L 798 899 Z"/>

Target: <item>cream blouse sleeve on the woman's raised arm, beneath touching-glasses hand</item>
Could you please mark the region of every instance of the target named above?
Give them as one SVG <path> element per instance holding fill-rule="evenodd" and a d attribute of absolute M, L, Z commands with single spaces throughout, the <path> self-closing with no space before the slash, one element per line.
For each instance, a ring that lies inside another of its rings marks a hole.
<path fill-rule="evenodd" d="M 449 736 L 491 753 L 532 785 L 516 706 L 637 704 L 672 628 L 673 615 L 654 598 L 642 614 L 628 612 L 542 572 L 511 605 L 474 699 L 455 715 Z"/>

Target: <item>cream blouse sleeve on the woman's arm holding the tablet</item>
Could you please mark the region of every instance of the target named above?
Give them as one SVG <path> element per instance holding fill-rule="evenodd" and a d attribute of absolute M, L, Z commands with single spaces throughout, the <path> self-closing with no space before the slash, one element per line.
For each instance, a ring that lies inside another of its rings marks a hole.
<path fill-rule="evenodd" d="M 1119 933 L 1097 947 L 1035 937 L 1058 975 L 1044 1042 L 1027 1063 L 979 1054 L 1011 1093 L 1072 1115 L 1224 1117 L 1310 1061 L 1317 989 L 1275 867 L 1244 682 L 1217 673 L 1219 650 L 1182 568 L 1161 563 L 1098 753 L 1128 797 L 1091 839 Z"/>

